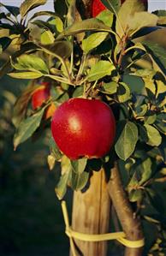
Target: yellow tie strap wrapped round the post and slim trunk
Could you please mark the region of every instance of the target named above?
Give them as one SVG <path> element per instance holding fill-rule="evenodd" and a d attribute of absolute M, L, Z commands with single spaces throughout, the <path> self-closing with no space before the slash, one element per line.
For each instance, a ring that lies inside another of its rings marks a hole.
<path fill-rule="evenodd" d="M 76 232 L 71 229 L 68 221 L 68 211 L 67 211 L 67 206 L 66 202 L 62 201 L 62 214 L 64 217 L 64 222 L 66 225 L 66 235 L 68 235 L 70 239 L 70 247 L 72 250 L 72 253 L 74 256 L 77 254 L 75 253 L 75 248 L 74 248 L 74 241 L 73 238 L 78 239 L 80 241 L 109 241 L 109 240 L 117 240 L 122 243 L 125 247 L 131 247 L 131 248 L 139 248 L 143 247 L 145 244 L 144 239 L 140 239 L 137 241 L 131 241 L 127 240 L 125 237 L 124 232 L 115 232 L 115 233 L 107 233 L 107 234 L 99 234 L 99 235 L 89 235 L 89 234 L 84 234 L 80 232 Z"/>

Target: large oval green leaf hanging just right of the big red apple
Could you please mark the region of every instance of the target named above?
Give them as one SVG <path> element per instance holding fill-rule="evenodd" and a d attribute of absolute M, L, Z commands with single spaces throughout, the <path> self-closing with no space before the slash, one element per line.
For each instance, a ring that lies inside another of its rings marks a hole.
<path fill-rule="evenodd" d="M 124 161 L 133 153 L 138 140 L 138 128 L 133 122 L 127 122 L 122 134 L 116 141 L 116 154 Z"/>

